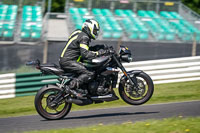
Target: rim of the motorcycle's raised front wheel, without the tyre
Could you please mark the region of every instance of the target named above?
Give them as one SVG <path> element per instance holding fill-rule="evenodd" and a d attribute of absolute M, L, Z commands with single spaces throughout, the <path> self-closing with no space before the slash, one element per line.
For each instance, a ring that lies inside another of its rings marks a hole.
<path fill-rule="evenodd" d="M 125 95 L 131 100 L 141 100 L 145 98 L 147 92 L 149 90 L 148 82 L 143 77 L 136 77 L 138 82 L 139 90 L 136 92 L 135 89 L 130 85 L 129 81 L 127 80 L 124 84 L 124 92 Z"/>

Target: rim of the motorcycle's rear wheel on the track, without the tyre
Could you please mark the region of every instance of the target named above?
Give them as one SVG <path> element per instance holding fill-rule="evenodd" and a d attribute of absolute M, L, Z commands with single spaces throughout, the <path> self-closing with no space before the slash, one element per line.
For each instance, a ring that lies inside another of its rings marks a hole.
<path fill-rule="evenodd" d="M 55 104 L 54 106 L 52 106 L 51 102 L 54 100 L 54 98 L 56 97 L 56 95 L 58 95 L 58 93 L 60 92 L 60 90 L 57 89 L 51 89 L 51 90 L 47 90 L 45 91 L 40 98 L 40 109 L 43 113 L 47 114 L 47 115 L 60 115 L 62 114 L 62 112 L 64 112 L 64 110 L 66 109 L 66 107 L 68 106 L 68 103 L 66 103 L 64 100 L 59 103 L 59 104 Z"/>

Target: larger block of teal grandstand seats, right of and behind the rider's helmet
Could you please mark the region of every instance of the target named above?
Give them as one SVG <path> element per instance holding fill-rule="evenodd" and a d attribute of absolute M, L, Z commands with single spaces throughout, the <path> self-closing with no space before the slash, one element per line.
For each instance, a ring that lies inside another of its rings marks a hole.
<path fill-rule="evenodd" d="M 88 18 L 98 20 L 102 27 L 102 39 L 119 39 L 128 37 L 131 40 L 153 39 L 166 41 L 200 41 L 200 30 L 174 11 L 70 8 L 69 14 L 75 28 L 80 29 Z"/>

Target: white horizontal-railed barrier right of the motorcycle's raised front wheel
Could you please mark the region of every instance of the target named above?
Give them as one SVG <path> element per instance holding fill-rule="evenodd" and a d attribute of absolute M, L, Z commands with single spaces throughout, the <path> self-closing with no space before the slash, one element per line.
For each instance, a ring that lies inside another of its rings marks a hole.
<path fill-rule="evenodd" d="M 154 84 L 200 80 L 200 56 L 124 64 L 127 71 L 143 70 Z"/>

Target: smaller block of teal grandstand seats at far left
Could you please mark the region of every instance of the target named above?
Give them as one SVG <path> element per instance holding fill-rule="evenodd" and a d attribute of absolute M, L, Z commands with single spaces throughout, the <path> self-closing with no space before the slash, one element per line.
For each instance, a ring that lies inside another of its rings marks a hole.
<path fill-rule="evenodd" d="M 40 2 L 30 5 L 15 1 L 0 3 L 0 40 L 4 43 L 41 41 L 43 8 Z"/>

